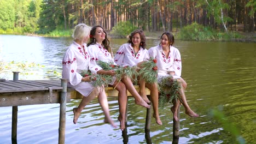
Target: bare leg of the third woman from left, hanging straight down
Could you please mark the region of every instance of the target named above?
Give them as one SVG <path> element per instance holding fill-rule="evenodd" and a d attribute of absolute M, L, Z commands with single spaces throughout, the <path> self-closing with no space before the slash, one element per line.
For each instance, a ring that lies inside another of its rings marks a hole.
<path fill-rule="evenodd" d="M 150 98 L 153 104 L 153 117 L 155 118 L 155 122 L 159 125 L 162 125 L 161 119 L 158 113 L 158 84 L 157 83 L 146 83 L 146 87 L 150 89 Z"/>

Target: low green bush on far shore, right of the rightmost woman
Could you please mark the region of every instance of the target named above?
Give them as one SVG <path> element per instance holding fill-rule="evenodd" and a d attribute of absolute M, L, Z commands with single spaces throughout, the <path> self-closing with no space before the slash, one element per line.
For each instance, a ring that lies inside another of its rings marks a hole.
<path fill-rule="evenodd" d="M 240 38 L 241 35 L 235 32 L 220 33 L 211 27 L 203 27 L 198 23 L 192 23 L 189 26 L 185 26 L 178 33 L 177 38 L 181 40 L 232 40 Z"/>

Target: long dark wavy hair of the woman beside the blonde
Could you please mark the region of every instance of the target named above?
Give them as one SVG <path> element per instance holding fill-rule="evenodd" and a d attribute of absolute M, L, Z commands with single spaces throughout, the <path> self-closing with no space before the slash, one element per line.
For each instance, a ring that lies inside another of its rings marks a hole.
<path fill-rule="evenodd" d="M 109 40 L 108 40 L 108 37 L 107 37 L 107 33 L 105 32 L 104 28 L 102 26 L 94 26 L 91 28 L 91 32 L 90 32 L 90 41 L 89 43 L 87 44 L 87 46 L 89 45 L 94 45 L 96 44 L 96 39 L 93 37 L 95 34 L 96 34 L 96 29 L 97 27 L 100 27 L 103 29 L 103 32 L 105 33 L 105 39 L 102 41 L 102 44 L 104 46 L 105 49 L 108 50 L 108 52 L 112 55 L 113 57 L 113 54 L 112 54 L 112 49 L 111 47 L 109 46 Z"/>

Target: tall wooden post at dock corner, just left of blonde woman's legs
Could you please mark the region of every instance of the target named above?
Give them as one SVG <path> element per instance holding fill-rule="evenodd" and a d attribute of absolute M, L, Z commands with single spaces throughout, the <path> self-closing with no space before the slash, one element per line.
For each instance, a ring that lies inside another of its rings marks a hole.
<path fill-rule="evenodd" d="M 61 79 L 59 143 L 65 143 L 67 79 Z"/>

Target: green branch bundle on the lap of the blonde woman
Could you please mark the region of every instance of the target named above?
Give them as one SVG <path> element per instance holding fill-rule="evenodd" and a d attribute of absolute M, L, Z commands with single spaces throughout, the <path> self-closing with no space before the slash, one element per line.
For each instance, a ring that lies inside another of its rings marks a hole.
<path fill-rule="evenodd" d="M 108 83 L 112 81 L 112 76 L 110 75 L 97 75 L 91 74 L 89 70 L 82 70 L 80 75 L 83 77 L 90 76 L 91 84 L 94 87 L 101 87 L 102 85 L 108 86 Z"/>

